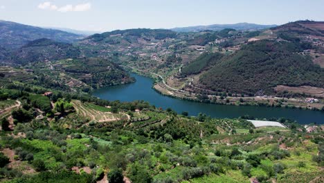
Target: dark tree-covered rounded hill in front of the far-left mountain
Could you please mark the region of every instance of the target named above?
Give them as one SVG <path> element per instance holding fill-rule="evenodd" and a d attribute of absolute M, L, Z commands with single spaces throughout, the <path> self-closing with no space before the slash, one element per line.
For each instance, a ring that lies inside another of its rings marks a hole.
<path fill-rule="evenodd" d="M 24 65 L 30 62 L 62 60 L 79 56 L 80 50 L 72 44 L 42 38 L 28 42 L 17 51 L 12 52 L 11 62 Z"/>

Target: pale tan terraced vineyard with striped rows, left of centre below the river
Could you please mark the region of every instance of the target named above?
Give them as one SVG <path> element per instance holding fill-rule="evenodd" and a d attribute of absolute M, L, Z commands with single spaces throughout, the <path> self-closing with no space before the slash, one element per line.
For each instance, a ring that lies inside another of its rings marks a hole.
<path fill-rule="evenodd" d="M 98 110 L 100 106 L 93 107 L 93 104 L 81 103 L 80 101 L 72 101 L 72 103 L 76 112 L 81 116 L 86 117 L 91 122 L 105 123 L 109 121 L 119 121 L 122 119 L 127 119 L 127 116 L 125 114 L 113 114 L 111 112 L 104 112 L 103 110 Z M 89 123 L 87 123 L 87 125 L 89 125 Z"/>

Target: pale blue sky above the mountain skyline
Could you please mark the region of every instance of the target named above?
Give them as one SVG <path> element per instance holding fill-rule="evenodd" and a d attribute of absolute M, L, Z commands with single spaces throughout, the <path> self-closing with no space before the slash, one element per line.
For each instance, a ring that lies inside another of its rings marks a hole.
<path fill-rule="evenodd" d="M 323 10 L 323 0 L 0 0 L 0 19 L 97 31 L 324 21 Z"/>

